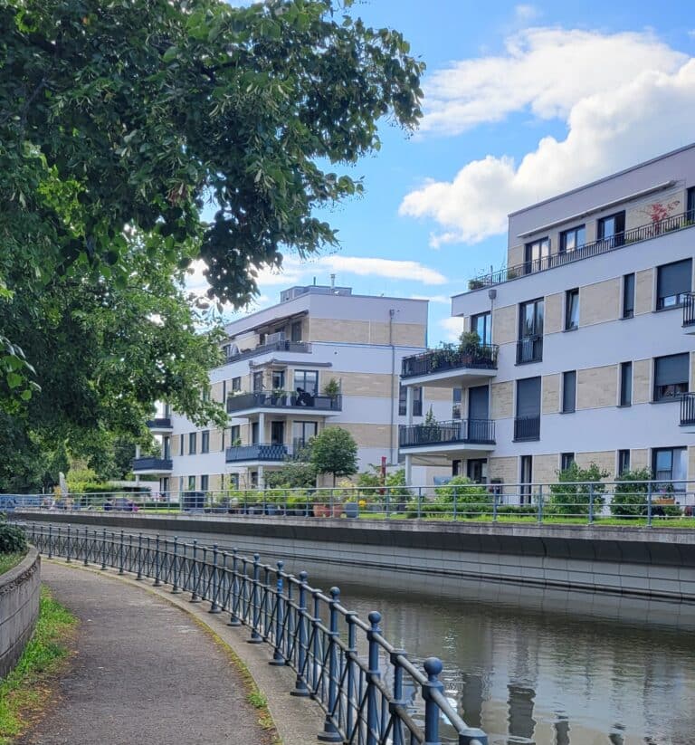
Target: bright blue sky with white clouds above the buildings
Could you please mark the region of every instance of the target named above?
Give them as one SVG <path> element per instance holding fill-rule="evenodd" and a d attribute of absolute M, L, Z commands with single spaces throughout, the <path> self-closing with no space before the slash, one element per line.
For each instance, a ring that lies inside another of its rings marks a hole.
<path fill-rule="evenodd" d="M 286 255 L 248 310 L 335 273 L 357 294 L 429 299 L 430 345 L 455 339 L 450 298 L 503 265 L 509 212 L 695 139 L 685 0 L 357 0 L 353 14 L 426 63 L 424 119 L 412 136 L 382 123 L 380 152 L 348 171 L 364 196 L 320 213 L 339 250 Z"/>

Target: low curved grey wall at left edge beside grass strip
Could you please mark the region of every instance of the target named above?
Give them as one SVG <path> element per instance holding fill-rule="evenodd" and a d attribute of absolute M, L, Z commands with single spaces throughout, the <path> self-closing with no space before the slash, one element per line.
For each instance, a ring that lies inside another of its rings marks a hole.
<path fill-rule="evenodd" d="M 0 678 L 12 670 L 39 615 L 41 558 L 36 549 L 0 575 Z"/>

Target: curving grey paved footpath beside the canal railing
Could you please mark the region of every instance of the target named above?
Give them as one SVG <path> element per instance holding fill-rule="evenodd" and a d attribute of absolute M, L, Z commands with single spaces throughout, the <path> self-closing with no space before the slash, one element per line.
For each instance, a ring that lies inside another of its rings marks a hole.
<path fill-rule="evenodd" d="M 223 649 L 179 608 L 108 575 L 43 562 L 42 580 L 81 619 L 60 701 L 17 745 L 265 745 Z"/>

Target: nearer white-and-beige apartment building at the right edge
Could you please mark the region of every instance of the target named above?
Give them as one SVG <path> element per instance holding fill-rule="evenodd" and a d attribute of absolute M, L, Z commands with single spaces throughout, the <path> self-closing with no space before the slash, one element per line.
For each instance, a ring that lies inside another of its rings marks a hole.
<path fill-rule="evenodd" d="M 693 253 L 695 145 L 509 215 L 505 268 L 452 298 L 480 343 L 404 360 L 408 391 L 452 405 L 401 427 L 413 482 L 418 463 L 516 484 L 573 461 L 695 482 Z"/>

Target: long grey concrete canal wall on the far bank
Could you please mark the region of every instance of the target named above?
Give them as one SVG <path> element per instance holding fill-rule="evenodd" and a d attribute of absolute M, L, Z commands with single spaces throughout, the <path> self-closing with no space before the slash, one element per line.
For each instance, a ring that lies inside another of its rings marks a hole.
<path fill-rule="evenodd" d="M 288 517 L 23 511 L 15 519 L 196 539 L 262 561 L 389 577 L 394 589 L 448 582 L 574 589 L 695 603 L 695 531 Z M 46 529 L 47 530 L 47 529 Z M 63 528 L 64 530 L 64 528 Z"/>

